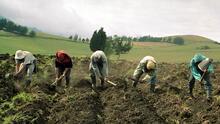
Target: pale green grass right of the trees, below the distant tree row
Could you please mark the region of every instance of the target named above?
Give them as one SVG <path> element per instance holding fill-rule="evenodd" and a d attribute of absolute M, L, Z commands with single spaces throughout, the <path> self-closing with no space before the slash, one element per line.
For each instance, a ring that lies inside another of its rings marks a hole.
<path fill-rule="evenodd" d="M 211 49 L 199 50 L 197 47 L 209 46 Z M 195 53 L 201 53 L 204 56 L 220 61 L 220 45 L 213 42 L 186 41 L 183 46 L 151 46 L 145 48 L 134 48 L 129 54 L 121 56 L 123 59 L 140 60 L 143 56 L 151 55 L 159 62 L 189 62 Z"/>

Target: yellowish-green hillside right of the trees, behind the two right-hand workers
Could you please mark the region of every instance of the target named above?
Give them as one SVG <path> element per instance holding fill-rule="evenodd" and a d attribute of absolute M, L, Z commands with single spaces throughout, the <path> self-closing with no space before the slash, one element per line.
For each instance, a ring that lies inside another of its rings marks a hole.
<path fill-rule="evenodd" d="M 189 62 L 195 53 L 201 53 L 213 58 L 215 61 L 220 61 L 220 45 L 200 36 L 198 36 L 198 39 L 195 39 L 197 36 L 183 36 L 183 38 L 186 39 L 184 45 L 165 42 L 133 42 L 134 47 L 129 54 L 123 54 L 121 58 L 140 60 L 143 56 L 151 55 L 159 62 L 181 63 Z M 209 49 L 202 49 L 203 47 Z"/>

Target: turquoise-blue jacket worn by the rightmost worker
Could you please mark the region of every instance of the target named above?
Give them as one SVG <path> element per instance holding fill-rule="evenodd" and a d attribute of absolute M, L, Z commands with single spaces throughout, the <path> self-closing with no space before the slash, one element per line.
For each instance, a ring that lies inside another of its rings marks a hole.
<path fill-rule="evenodd" d="M 199 71 L 197 70 L 198 67 L 196 67 L 196 63 L 202 60 L 207 59 L 205 56 L 202 56 L 199 53 L 196 53 L 194 58 L 190 61 L 190 71 L 192 72 L 193 77 L 196 80 L 200 80 L 201 79 L 201 74 L 199 73 Z M 213 72 L 213 65 L 211 64 L 208 68 L 209 72 Z"/>

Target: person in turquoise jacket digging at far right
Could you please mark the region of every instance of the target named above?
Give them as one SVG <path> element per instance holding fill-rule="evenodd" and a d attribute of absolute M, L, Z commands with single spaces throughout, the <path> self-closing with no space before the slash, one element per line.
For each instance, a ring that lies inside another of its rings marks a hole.
<path fill-rule="evenodd" d="M 204 74 L 204 83 L 201 82 L 202 84 L 204 84 L 204 88 L 206 90 L 206 94 L 207 94 L 207 99 L 211 99 L 211 90 L 212 90 L 212 85 L 210 82 L 210 73 L 213 72 L 213 66 L 212 64 L 209 64 L 207 69 L 202 69 L 202 67 L 200 67 L 200 63 L 204 63 L 205 61 L 210 60 L 209 58 L 206 58 L 205 56 L 202 56 L 199 53 L 196 53 L 194 58 L 192 58 L 192 60 L 190 61 L 190 71 L 191 71 L 191 76 L 188 82 L 188 86 L 189 86 L 189 93 L 190 96 L 193 97 L 193 88 L 195 85 L 195 79 L 198 80 L 199 82 L 201 82 L 202 80 L 202 75 Z"/>

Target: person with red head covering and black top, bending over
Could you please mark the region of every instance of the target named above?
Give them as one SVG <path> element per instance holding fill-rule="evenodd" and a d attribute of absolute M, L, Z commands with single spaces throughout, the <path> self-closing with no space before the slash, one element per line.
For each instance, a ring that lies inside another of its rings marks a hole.
<path fill-rule="evenodd" d="M 56 52 L 55 59 L 56 79 L 53 85 L 60 87 L 62 79 L 66 79 L 66 87 L 70 85 L 70 72 L 73 67 L 72 60 L 66 51 L 60 50 Z"/>

